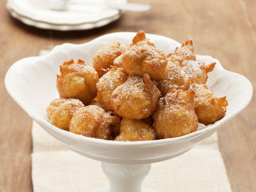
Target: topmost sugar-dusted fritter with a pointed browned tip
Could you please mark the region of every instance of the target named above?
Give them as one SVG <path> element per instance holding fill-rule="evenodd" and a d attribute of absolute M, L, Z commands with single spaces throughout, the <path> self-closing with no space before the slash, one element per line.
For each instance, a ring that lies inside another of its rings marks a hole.
<path fill-rule="evenodd" d="M 146 38 L 144 31 L 139 31 L 130 49 L 124 52 L 121 63 L 128 74 L 143 77 L 147 73 L 151 79 L 159 80 L 164 77 L 167 57 Z"/>

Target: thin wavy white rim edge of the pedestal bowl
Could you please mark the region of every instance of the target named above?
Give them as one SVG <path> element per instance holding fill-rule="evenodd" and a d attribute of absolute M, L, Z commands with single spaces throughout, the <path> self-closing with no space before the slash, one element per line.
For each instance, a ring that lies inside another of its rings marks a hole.
<path fill-rule="evenodd" d="M 119 33 L 133 33 L 133 35 L 135 35 L 136 33 L 135 32 L 117 32 L 117 33 L 109 33 L 111 35 L 114 35 L 114 34 L 119 34 Z M 87 42 L 87 43 L 84 43 L 84 44 L 70 44 L 70 43 L 64 43 L 62 45 L 57 45 L 55 46 L 52 51 L 45 55 L 45 56 L 36 56 L 36 57 L 26 57 L 26 58 L 23 58 L 17 62 L 15 62 L 7 71 L 6 73 L 6 76 L 5 76 L 5 87 L 7 89 L 7 92 L 11 95 L 11 97 L 16 101 L 16 103 L 18 103 L 19 106 L 22 107 L 22 109 L 28 113 L 28 115 L 33 118 L 36 122 L 39 122 L 45 126 L 47 126 L 48 128 L 50 128 L 51 130 L 57 132 L 58 134 L 60 135 L 64 135 L 66 137 L 69 137 L 69 138 L 72 138 L 72 139 L 75 139 L 75 140 L 80 140 L 80 141 L 85 141 L 85 142 L 90 142 L 90 143 L 94 143 L 94 144 L 104 144 L 104 145 L 111 145 L 111 146 L 142 146 L 142 145 L 145 145 L 145 146 L 148 146 L 148 145 L 153 145 L 153 144 L 163 144 L 163 143 L 169 143 L 169 142 L 176 142 L 176 141 L 182 141 L 182 140 L 186 140 L 188 138 L 191 138 L 191 137 L 195 137 L 197 135 L 202 135 L 210 130 L 213 130 L 213 129 L 217 129 L 220 125 L 224 124 L 225 122 L 227 122 L 228 120 L 230 120 L 231 118 L 233 118 L 234 116 L 236 116 L 239 112 L 241 112 L 249 103 L 250 103 L 250 100 L 252 98 L 252 85 L 250 83 L 250 81 L 245 78 L 243 75 L 240 75 L 240 74 L 237 74 L 237 73 L 234 73 L 234 72 L 230 72 L 226 69 L 224 69 L 221 65 L 221 69 L 224 71 L 224 72 L 228 72 L 228 73 L 232 73 L 232 74 L 235 74 L 235 75 L 239 75 L 240 78 L 243 78 L 244 81 L 245 81 L 245 85 L 247 86 L 247 88 L 249 89 L 248 91 L 248 95 L 247 96 L 247 99 L 246 99 L 246 102 L 243 104 L 243 106 L 239 107 L 236 112 L 232 113 L 228 118 L 224 118 L 224 119 L 221 119 L 217 122 L 215 122 L 214 124 L 212 125 L 208 125 L 206 128 L 204 129 L 201 129 L 201 130 L 198 130 L 198 131 L 195 131 L 195 132 L 192 132 L 190 134 L 187 134 L 187 135 L 184 135 L 184 136 L 180 136 L 180 137 L 174 137 L 174 138 L 166 138 L 166 139 L 161 139 L 161 140 L 150 140 L 150 141 L 111 141 L 111 140 L 102 140 L 102 139 L 98 139 L 98 138 L 91 138 L 91 137 L 85 137 L 85 136 L 82 136 L 82 135 L 77 135 L 77 134 L 73 134 L 72 132 L 69 132 L 69 131 L 65 131 L 65 130 L 62 130 L 62 129 L 59 129 L 57 127 L 55 127 L 54 125 L 50 124 L 49 122 L 47 122 L 46 120 L 43 120 L 42 118 L 39 118 L 33 114 L 30 113 L 30 111 L 25 107 L 25 105 L 23 105 L 23 103 L 16 97 L 16 95 L 14 95 L 14 93 L 11 91 L 10 87 L 8 87 L 8 79 L 10 78 L 10 74 L 12 72 L 12 69 L 15 68 L 17 65 L 19 65 L 21 62 L 24 62 L 24 61 L 34 61 L 32 62 L 32 64 L 35 64 L 37 60 L 43 60 L 44 57 L 48 57 L 48 56 L 52 56 L 55 54 L 55 52 L 61 50 L 62 48 L 66 47 L 66 46 L 79 46 L 79 45 L 85 45 L 85 44 L 89 44 L 89 43 L 94 43 L 95 41 L 98 41 L 100 38 L 102 37 L 105 37 L 109 34 L 106 34 L 106 35 L 103 35 L 103 36 L 100 36 L 96 39 L 93 39 L 92 41 L 90 42 Z M 149 34 L 149 33 L 146 33 L 146 36 L 158 36 L 158 37 L 161 37 L 161 38 L 168 38 L 168 37 L 165 37 L 165 36 L 160 36 L 160 35 L 154 35 L 154 34 Z M 171 39 L 171 38 L 168 38 L 168 39 Z M 174 41 L 173 39 L 171 39 L 172 41 Z M 200 55 L 197 55 L 197 56 L 200 56 Z M 211 56 L 207 56 L 207 57 L 210 57 L 212 58 Z M 213 58 L 212 58 L 213 59 Z M 216 59 L 214 59 L 216 60 Z M 216 62 L 219 62 L 218 60 L 216 60 Z"/>

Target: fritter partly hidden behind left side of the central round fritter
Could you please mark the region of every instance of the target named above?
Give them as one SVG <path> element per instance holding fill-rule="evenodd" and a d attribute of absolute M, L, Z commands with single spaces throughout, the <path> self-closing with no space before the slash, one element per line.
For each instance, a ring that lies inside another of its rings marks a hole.
<path fill-rule="evenodd" d="M 110 104 L 111 94 L 127 80 L 127 76 L 124 69 L 111 66 L 111 69 L 97 82 L 100 104 L 105 111 L 113 111 Z"/>

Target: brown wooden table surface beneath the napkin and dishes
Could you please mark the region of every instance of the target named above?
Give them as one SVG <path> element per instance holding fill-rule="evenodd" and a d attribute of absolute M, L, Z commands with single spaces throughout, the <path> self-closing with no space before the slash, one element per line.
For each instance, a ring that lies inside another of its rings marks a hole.
<path fill-rule="evenodd" d="M 146 2 L 146 1 L 140 1 Z M 126 12 L 118 21 L 89 31 L 59 32 L 26 26 L 0 2 L 0 191 L 31 192 L 31 118 L 6 92 L 8 68 L 23 57 L 62 43 L 85 43 L 106 33 L 142 29 L 183 42 L 195 52 L 218 58 L 222 66 L 246 76 L 256 90 L 255 0 L 152 0 L 144 13 Z M 255 93 L 255 91 L 254 91 Z M 233 192 L 256 192 L 256 97 L 224 124 L 219 133 Z M 209 178 L 210 179 L 210 178 Z"/>

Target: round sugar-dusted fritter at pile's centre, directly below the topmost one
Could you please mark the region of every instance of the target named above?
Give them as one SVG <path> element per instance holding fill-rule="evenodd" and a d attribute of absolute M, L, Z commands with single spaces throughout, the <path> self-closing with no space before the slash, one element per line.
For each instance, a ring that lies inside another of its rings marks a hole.
<path fill-rule="evenodd" d="M 148 74 L 143 78 L 129 75 L 125 83 L 113 91 L 110 103 L 121 117 L 144 119 L 154 112 L 159 97 L 156 82 L 152 82 Z"/>

